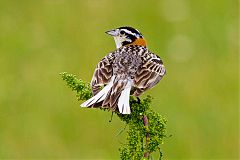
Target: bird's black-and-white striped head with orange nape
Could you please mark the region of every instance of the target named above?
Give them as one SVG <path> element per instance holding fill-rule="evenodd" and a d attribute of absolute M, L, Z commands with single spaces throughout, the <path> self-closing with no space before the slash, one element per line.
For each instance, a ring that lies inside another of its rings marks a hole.
<path fill-rule="evenodd" d="M 139 45 L 146 47 L 146 40 L 143 35 L 132 27 L 120 27 L 106 32 L 113 36 L 117 48 L 126 45 Z"/>

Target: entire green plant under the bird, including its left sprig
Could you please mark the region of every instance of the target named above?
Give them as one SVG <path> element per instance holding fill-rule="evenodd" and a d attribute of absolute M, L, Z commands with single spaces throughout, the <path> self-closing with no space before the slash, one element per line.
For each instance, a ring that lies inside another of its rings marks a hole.
<path fill-rule="evenodd" d="M 78 100 L 87 100 L 92 96 L 89 83 L 66 72 L 60 73 L 60 75 L 67 82 L 67 85 L 77 93 Z M 126 143 L 119 149 L 122 160 L 148 159 L 149 157 L 144 157 L 145 153 L 151 154 L 160 151 L 160 145 L 166 136 L 167 121 L 159 113 L 150 109 L 151 100 L 150 96 L 143 100 L 135 100 L 131 97 L 132 113 L 130 115 L 115 112 L 128 126 Z M 148 119 L 147 125 L 144 124 L 144 116 Z M 160 152 L 160 159 L 161 157 L 162 153 Z"/>

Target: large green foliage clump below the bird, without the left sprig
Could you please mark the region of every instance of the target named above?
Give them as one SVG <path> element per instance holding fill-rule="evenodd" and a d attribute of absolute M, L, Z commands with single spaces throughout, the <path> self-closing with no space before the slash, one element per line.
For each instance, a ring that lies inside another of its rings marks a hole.
<path fill-rule="evenodd" d="M 130 115 L 118 114 L 121 120 L 129 126 L 127 143 L 120 148 L 121 159 L 142 159 L 144 153 L 160 150 L 163 138 L 166 136 L 166 119 L 150 109 L 152 98 L 147 96 L 140 103 L 131 97 Z M 148 126 L 144 125 L 144 115 L 148 117 Z M 144 142 L 149 134 L 148 144 Z M 160 157 L 161 157 L 160 152 Z"/>

